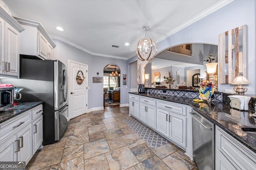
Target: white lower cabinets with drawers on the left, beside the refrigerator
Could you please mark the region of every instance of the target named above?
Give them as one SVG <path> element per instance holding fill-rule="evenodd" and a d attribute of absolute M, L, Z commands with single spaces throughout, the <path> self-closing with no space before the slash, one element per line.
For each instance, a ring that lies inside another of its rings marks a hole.
<path fill-rule="evenodd" d="M 42 146 L 42 110 L 41 104 L 0 124 L 0 161 L 29 162 Z"/>

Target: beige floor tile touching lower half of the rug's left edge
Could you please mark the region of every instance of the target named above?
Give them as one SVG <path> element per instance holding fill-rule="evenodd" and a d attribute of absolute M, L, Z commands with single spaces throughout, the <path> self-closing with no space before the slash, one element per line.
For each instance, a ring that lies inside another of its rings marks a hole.
<path fill-rule="evenodd" d="M 129 148 L 136 147 L 142 143 L 146 143 L 137 133 L 130 133 L 128 135 L 122 136 L 124 142 L 128 145 Z"/>

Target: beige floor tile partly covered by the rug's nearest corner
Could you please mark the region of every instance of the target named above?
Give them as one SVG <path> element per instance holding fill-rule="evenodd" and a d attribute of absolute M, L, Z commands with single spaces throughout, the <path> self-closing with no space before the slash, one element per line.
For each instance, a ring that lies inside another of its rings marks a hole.
<path fill-rule="evenodd" d="M 175 147 L 173 147 L 170 144 L 165 144 L 162 145 L 161 147 L 158 147 L 156 149 L 150 147 L 150 145 L 146 144 L 160 159 L 168 156 L 169 154 L 172 154 L 173 152 L 175 152 L 177 149 Z"/>

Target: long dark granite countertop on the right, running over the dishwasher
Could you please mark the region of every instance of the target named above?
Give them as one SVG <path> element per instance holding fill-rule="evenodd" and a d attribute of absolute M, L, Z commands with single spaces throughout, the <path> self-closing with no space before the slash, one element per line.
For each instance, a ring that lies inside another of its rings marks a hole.
<path fill-rule="evenodd" d="M 215 125 L 218 125 L 232 137 L 256 153 L 256 139 L 242 131 L 242 127 L 256 128 L 256 119 L 252 117 L 254 111 L 239 111 L 232 109 L 225 103 L 220 102 L 211 102 L 210 104 L 197 103 L 191 98 L 138 92 L 129 93 L 190 105 L 195 111 L 200 113 Z"/>

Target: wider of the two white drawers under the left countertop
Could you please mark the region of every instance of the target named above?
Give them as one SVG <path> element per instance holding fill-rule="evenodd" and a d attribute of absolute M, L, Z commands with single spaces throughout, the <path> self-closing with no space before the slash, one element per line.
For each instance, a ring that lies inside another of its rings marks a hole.
<path fill-rule="evenodd" d="M 0 141 L 4 139 L 7 135 L 14 132 L 16 129 L 22 128 L 26 123 L 30 122 L 30 111 L 23 113 L 21 116 L 17 117 L 13 121 L 10 121 L 4 125 L 1 125 L 0 129 Z"/>

